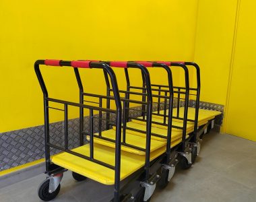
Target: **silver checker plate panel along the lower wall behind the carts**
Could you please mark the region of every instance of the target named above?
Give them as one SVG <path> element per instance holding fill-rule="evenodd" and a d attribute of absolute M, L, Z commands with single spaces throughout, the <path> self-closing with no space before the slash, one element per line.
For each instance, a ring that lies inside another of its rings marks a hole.
<path fill-rule="evenodd" d="M 194 107 L 195 102 L 190 100 L 190 105 Z M 184 102 L 181 102 L 184 106 Z M 177 107 L 177 100 L 174 100 L 174 107 Z M 153 110 L 156 111 L 157 104 L 154 104 Z M 160 104 L 162 110 L 164 106 Z M 220 110 L 223 112 L 224 107 L 217 104 L 201 102 L 200 108 L 211 110 Z M 135 109 L 135 110 L 132 110 Z M 129 110 L 130 117 L 141 116 L 141 106 L 131 108 Z M 97 116 L 97 115 L 95 115 Z M 102 119 L 106 119 L 106 114 L 102 114 Z M 111 121 L 115 121 L 115 116 L 110 116 Z M 89 117 L 84 118 L 84 129 L 89 133 Z M 106 121 L 102 121 L 102 131 L 106 130 Z M 69 119 L 69 149 L 79 145 L 79 119 Z M 98 119 L 94 119 L 94 133 L 99 131 Z M 63 121 L 51 123 L 50 137 L 51 143 L 60 146 L 64 145 L 64 123 Z M 86 139 L 86 138 L 85 138 Z M 86 141 L 85 141 L 86 143 Z M 57 149 L 51 149 L 51 155 L 57 154 Z M 33 162 L 44 158 L 44 126 L 30 127 L 28 129 L 20 129 L 17 131 L 9 131 L 0 133 L 0 171 L 20 166 L 28 162 Z"/>

